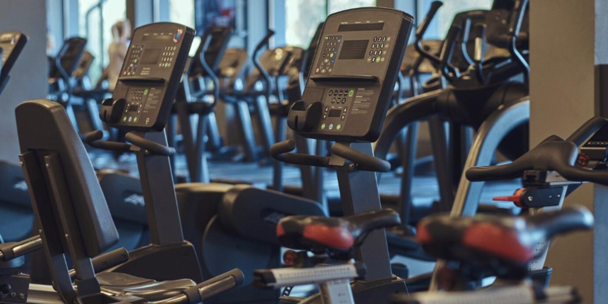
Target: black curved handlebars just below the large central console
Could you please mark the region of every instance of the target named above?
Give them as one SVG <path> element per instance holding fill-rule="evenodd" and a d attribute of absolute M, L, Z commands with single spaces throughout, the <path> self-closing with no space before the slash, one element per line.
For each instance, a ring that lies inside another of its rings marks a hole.
<path fill-rule="evenodd" d="M 326 168 L 332 167 L 332 165 L 330 165 L 330 157 L 291 153 L 294 149 L 295 142 L 293 140 L 285 140 L 272 145 L 270 154 L 277 161 L 286 162 L 288 164 Z M 361 171 L 388 172 L 390 170 L 389 162 L 354 150 L 344 143 L 334 143 L 331 146 L 331 152 L 336 154 L 336 156 L 340 156 L 352 162 L 356 165 L 356 168 Z"/>

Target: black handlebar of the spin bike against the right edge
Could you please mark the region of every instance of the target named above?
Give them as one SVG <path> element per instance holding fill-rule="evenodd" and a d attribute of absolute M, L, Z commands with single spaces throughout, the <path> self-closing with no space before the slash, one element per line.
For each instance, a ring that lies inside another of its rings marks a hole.
<path fill-rule="evenodd" d="M 510 164 L 469 168 L 466 178 L 469 181 L 507 180 L 520 178 L 528 170 L 556 171 L 568 181 L 608 185 L 608 170 L 591 170 L 575 165 L 578 145 L 607 121 L 593 117 L 568 137 L 575 141 L 558 136 L 548 137 Z"/>

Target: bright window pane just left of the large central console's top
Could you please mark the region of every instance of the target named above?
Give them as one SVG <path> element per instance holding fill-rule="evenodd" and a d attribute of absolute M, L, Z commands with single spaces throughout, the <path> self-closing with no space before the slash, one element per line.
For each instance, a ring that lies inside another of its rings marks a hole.
<path fill-rule="evenodd" d="M 325 0 L 285 1 L 285 43 L 308 47 L 317 26 L 326 17 Z"/>

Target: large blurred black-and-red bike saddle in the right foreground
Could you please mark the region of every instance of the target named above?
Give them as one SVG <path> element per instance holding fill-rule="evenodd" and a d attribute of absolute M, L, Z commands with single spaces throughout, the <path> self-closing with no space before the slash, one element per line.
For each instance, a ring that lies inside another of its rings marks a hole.
<path fill-rule="evenodd" d="M 547 244 L 558 234 L 592 226 L 593 215 L 585 207 L 529 216 L 432 215 L 420 221 L 416 239 L 424 250 L 446 260 L 525 264 L 542 252 L 536 250 L 539 243 Z"/>

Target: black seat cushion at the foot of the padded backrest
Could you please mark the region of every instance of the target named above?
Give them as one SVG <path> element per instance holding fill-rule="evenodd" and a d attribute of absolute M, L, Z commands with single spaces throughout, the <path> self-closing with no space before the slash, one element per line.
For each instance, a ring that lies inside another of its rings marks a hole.
<path fill-rule="evenodd" d="M 179 295 L 184 289 L 195 286 L 193 280 L 161 281 L 135 277 L 117 272 L 101 272 L 97 280 L 102 292 L 110 295 L 133 295 L 148 301 L 159 301 Z"/>

